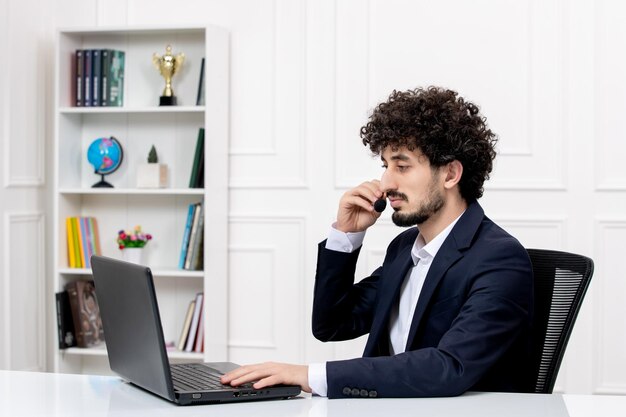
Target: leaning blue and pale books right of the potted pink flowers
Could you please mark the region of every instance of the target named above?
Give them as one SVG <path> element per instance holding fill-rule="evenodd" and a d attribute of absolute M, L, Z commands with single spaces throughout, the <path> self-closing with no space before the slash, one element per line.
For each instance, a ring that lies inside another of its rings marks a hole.
<path fill-rule="evenodd" d="M 190 204 L 183 233 L 178 267 L 201 271 L 204 268 L 204 204 Z"/>

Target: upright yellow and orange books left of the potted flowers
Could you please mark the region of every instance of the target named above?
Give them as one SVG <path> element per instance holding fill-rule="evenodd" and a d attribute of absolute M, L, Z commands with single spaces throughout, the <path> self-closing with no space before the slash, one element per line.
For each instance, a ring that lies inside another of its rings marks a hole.
<path fill-rule="evenodd" d="M 67 259 L 70 268 L 91 268 L 91 255 L 101 255 L 98 221 L 94 217 L 67 217 Z"/>

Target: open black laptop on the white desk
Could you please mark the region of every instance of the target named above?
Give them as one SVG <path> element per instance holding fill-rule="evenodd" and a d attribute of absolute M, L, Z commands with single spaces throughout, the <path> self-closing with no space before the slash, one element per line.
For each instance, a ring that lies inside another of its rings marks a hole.
<path fill-rule="evenodd" d="M 254 389 L 219 382 L 231 362 L 170 364 L 150 268 L 93 255 L 91 268 L 111 370 L 179 405 L 287 399 L 300 386 Z"/>

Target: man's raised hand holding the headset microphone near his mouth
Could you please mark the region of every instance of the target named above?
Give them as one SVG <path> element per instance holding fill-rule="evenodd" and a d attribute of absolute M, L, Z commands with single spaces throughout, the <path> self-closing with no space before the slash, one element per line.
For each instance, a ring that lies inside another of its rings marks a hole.
<path fill-rule="evenodd" d="M 362 232 L 376 223 L 380 213 L 374 210 L 374 202 L 383 197 L 380 181 L 372 180 L 348 190 L 339 201 L 337 230 Z"/>

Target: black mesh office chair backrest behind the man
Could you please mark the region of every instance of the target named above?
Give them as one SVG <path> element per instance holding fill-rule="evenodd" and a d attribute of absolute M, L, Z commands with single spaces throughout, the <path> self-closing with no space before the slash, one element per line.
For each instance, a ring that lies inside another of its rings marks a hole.
<path fill-rule="evenodd" d="M 533 265 L 535 392 L 551 394 L 576 316 L 593 275 L 586 256 L 527 249 Z"/>

